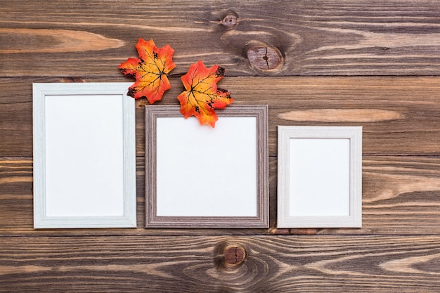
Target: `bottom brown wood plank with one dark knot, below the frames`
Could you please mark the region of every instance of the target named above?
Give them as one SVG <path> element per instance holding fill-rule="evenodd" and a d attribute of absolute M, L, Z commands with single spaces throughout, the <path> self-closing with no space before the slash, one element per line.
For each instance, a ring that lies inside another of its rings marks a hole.
<path fill-rule="evenodd" d="M 438 236 L 6 237 L 0 292 L 432 293 L 439 261 Z"/>

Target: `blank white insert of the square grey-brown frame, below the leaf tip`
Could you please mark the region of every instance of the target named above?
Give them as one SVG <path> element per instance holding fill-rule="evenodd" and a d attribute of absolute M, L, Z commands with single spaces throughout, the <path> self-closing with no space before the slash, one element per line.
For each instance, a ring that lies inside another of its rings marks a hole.
<path fill-rule="evenodd" d="M 256 144 L 256 117 L 157 118 L 157 216 L 257 216 Z"/>

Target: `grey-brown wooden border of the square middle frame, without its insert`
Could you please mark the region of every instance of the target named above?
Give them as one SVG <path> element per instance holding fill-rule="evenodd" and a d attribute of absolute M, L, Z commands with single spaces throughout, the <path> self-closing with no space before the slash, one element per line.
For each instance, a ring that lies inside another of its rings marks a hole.
<path fill-rule="evenodd" d="M 158 117 L 182 117 L 180 107 L 145 107 L 145 227 L 147 228 L 268 228 L 268 106 L 231 105 L 221 117 L 257 118 L 257 216 L 157 216 L 156 134 Z M 192 117 L 192 119 L 194 119 Z M 184 196 L 184 195 L 183 195 Z"/>

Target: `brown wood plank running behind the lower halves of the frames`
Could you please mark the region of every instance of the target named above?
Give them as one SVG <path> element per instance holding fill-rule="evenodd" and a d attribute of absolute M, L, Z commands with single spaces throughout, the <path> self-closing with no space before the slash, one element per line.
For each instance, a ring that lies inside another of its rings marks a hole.
<path fill-rule="evenodd" d="M 0 235 L 439 235 L 440 158 L 363 157 L 363 228 L 276 229 L 276 158 L 269 164 L 270 227 L 265 229 L 145 229 L 143 157 L 137 160 L 136 229 L 34 230 L 32 159 L 0 159 Z"/>

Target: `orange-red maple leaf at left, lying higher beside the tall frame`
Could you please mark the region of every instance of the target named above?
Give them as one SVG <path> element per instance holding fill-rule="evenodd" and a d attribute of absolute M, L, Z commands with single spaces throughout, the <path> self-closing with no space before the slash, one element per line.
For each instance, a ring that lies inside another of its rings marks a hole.
<path fill-rule="evenodd" d="M 129 58 L 119 68 L 126 76 L 136 78 L 128 95 L 136 99 L 146 97 L 148 103 L 153 104 L 171 89 L 167 74 L 176 67 L 172 60 L 174 50 L 168 44 L 157 48 L 152 39 L 145 41 L 142 38 L 139 38 L 136 49 L 139 58 Z"/>

